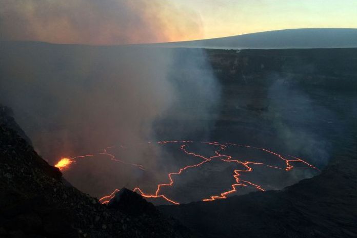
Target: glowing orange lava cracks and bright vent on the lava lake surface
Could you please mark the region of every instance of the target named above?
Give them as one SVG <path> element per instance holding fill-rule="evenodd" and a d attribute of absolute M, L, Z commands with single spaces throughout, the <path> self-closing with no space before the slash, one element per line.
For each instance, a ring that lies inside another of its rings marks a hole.
<path fill-rule="evenodd" d="M 270 151 L 268 149 L 264 149 L 264 148 L 260 148 L 260 147 L 253 147 L 253 146 L 240 145 L 240 144 L 234 144 L 234 143 L 200 142 L 200 143 L 203 143 L 203 144 L 206 144 L 206 145 L 218 147 L 217 149 L 214 150 L 214 155 L 212 155 L 210 157 L 206 157 L 204 155 L 201 155 L 199 153 L 195 153 L 195 152 L 192 152 L 192 151 L 188 151 L 186 149 L 188 143 L 193 143 L 193 141 L 160 141 L 160 142 L 157 142 L 157 143 L 158 144 L 162 144 L 162 145 L 168 144 L 168 143 L 182 144 L 180 146 L 180 149 L 184 153 L 186 153 L 186 154 L 188 154 L 190 156 L 193 156 L 193 157 L 198 157 L 198 158 L 201 159 L 200 162 L 197 162 L 197 163 L 194 163 L 194 164 L 190 164 L 190 165 L 186 165 L 183 168 L 180 168 L 175 172 L 168 173 L 167 174 L 168 182 L 162 183 L 162 184 L 158 184 L 156 186 L 156 190 L 155 190 L 154 193 L 145 193 L 139 187 L 135 187 L 133 189 L 134 192 L 137 192 L 137 193 L 141 194 L 143 197 L 154 198 L 154 199 L 162 198 L 162 199 L 168 201 L 169 203 L 176 204 L 176 205 L 180 204 L 180 203 L 178 203 L 177 201 L 174 201 L 173 199 L 168 197 L 166 194 L 164 194 L 162 192 L 162 188 L 164 188 L 164 187 L 172 187 L 173 184 L 174 184 L 174 176 L 176 178 L 176 177 L 180 176 L 186 170 L 195 169 L 195 168 L 200 167 L 201 165 L 203 165 L 205 163 L 209 163 L 212 160 L 221 160 L 221 161 L 223 161 L 225 163 L 237 163 L 237 164 L 243 165 L 244 169 L 234 170 L 233 171 L 234 172 L 233 177 L 234 177 L 235 183 L 231 184 L 231 186 L 230 186 L 231 188 L 229 190 L 226 190 L 226 191 L 221 192 L 220 194 L 214 194 L 214 195 L 209 196 L 208 198 L 202 199 L 202 201 L 204 201 L 204 202 L 214 201 L 214 200 L 217 200 L 217 199 L 226 199 L 229 194 L 232 194 L 232 193 L 236 192 L 237 188 L 238 187 L 242 187 L 242 186 L 251 186 L 251 187 L 255 188 L 256 190 L 265 191 L 265 189 L 262 188 L 261 185 L 257 185 L 257 184 L 252 183 L 251 181 L 247 181 L 247 180 L 242 180 L 241 179 L 241 175 L 242 174 L 253 171 L 253 168 L 251 167 L 251 165 L 266 166 L 266 167 L 272 168 L 272 169 L 280 169 L 280 170 L 290 171 L 290 170 L 292 170 L 294 168 L 294 166 L 291 165 L 291 162 L 294 162 L 294 163 L 301 163 L 301 164 L 305 165 L 304 168 L 311 168 L 311 169 L 318 170 L 316 167 L 314 167 L 311 164 L 303 161 L 301 158 L 298 158 L 298 157 L 295 157 L 295 156 L 291 156 L 291 155 L 287 155 L 287 157 L 286 157 L 286 156 L 283 156 L 281 154 L 278 154 L 278 153 L 272 152 L 272 151 Z M 150 143 L 148 143 L 148 144 L 150 144 Z M 232 160 L 232 155 L 224 154 L 224 151 L 227 149 L 228 146 L 252 148 L 252 149 L 255 149 L 255 150 L 261 150 L 261 151 L 264 151 L 266 153 L 272 154 L 275 157 L 277 157 L 279 160 L 284 162 L 285 168 L 279 168 L 279 167 L 276 167 L 276 166 L 273 166 L 273 165 L 268 165 L 268 164 L 264 164 L 264 163 L 260 163 L 260 162 L 254 162 L 254 161 Z M 124 148 L 123 146 L 121 146 L 121 147 Z M 115 161 L 115 162 L 120 162 L 120 163 L 123 163 L 123 164 L 128 165 L 128 166 L 134 166 L 134 167 L 137 167 L 138 169 L 145 170 L 143 165 L 133 164 L 133 163 L 128 163 L 128 162 L 125 162 L 125 161 L 122 161 L 122 160 L 118 160 L 115 157 L 115 155 L 113 155 L 113 154 L 108 152 L 108 149 L 110 149 L 110 148 L 114 148 L 114 147 L 106 147 L 105 149 L 102 150 L 102 152 L 97 153 L 97 154 L 106 155 L 106 156 L 109 156 L 109 158 L 111 160 Z M 74 160 L 76 158 L 84 158 L 84 157 L 87 157 L 87 156 L 94 156 L 94 155 L 93 154 L 89 154 L 89 155 L 82 155 L 82 156 L 77 156 L 77 157 L 73 157 L 73 158 L 63 158 L 55 166 L 57 168 L 60 168 L 60 169 L 69 168 L 68 166 L 72 162 L 74 162 Z M 115 193 L 118 192 L 118 191 L 119 191 L 118 189 L 115 189 L 111 194 L 102 197 L 100 199 L 100 202 L 103 203 L 103 204 L 109 203 L 110 199 L 112 199 L 112 197 L 114 197 Z"/>

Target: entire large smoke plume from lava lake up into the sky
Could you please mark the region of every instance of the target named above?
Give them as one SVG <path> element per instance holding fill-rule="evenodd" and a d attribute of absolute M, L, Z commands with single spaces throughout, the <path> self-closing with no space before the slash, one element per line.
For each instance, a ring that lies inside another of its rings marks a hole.
<path fill-rule="evenodd" d="M 197 132 L 208 136 L 212 122 L 198 115 L 217 108 L 220 88 L 203 50 L 11 42 L 112 45 L 199 38 L 202 27 L 195 12 L 162 0 L 15 0 L 1 5 L 0 102 L 13 108 L 50 164 L 61 156 L 124 144 L 135 145 L 125 152 L 129 162 L 145 162 L 155 170 L 158 159 L 168 154 L 155 144 L 145 145 L 168 128 L 175 128 L 169 140 Z M 172 120 L 174 125 L 168 123 Z M 127 186 L 135 186 L 145 176 L 104 161 L 88 160 L 67 177 L 101 195 L 128 178 Z M 108 177 L 108 171 L 115 174 Z"/>

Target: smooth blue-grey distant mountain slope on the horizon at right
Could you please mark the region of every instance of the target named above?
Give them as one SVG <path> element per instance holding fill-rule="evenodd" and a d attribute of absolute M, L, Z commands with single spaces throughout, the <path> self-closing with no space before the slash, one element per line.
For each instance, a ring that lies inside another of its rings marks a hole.
<path fill-rule="evenodd" d="M 213 49 L 292 49 L 357 47 L 357 29 L 307 28 L 256 32 L 197 41 L 152 44 Z"/>

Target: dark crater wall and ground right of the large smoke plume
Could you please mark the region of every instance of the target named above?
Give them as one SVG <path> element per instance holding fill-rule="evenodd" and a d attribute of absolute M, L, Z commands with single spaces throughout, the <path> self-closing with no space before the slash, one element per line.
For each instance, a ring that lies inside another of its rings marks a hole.
<path fill-rule="evenodd" d="M 280 191 L 160 210 L 199 237 L 357 237 L 357 49 L 208 55 L 223 85 L 212 137 L 304 154 L 322 173 Z"/>

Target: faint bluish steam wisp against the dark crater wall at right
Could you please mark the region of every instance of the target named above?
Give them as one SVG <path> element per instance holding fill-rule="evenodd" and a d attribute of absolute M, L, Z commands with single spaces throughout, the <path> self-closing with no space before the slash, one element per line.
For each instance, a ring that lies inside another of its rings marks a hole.
<path fill-rule="evenodd" d="M 322 168 L 329 160 L 330 144 L 313 128 L 319 127 L 317 118 L 335 121 L 335 115 L 327 108 L 315 105 L 299 87 L 289 87 L 289 81 L 292 81 L 291 78 L 277 77 L 269 87 L 267 98 L 271 110 L 267 117 L 276 131 L 277 140 L 288 151 L 299 151 L 303 157 L 309 157 L 311 163 Z"/>

